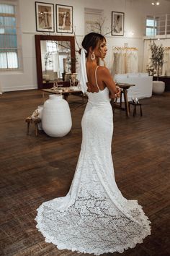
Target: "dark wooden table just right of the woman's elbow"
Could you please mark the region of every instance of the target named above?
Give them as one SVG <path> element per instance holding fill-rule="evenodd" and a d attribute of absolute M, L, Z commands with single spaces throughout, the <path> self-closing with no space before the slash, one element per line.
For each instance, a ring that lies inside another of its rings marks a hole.
<path fill-rule="evenodd" d="M 114 103 L 114 106 L 116 108 L 121 108 L 122 110 L 125 110 L 126 111 L 126 115 L 130 116 L 130 109 L 129 109 L 129 104 L 128 104 L 128 91 L 127 90 L 131 86 L 135 86 L 135 85 L 133 85 L 133 84 L 126 84 L 126 83 L 120 83 L 120 82 L 118 82 L 116 85 L 119 86 L 120 89 L 121 89 L 120 104 Z M 124 95 L 125 108 L 122 107 L 122 94 Z"/>

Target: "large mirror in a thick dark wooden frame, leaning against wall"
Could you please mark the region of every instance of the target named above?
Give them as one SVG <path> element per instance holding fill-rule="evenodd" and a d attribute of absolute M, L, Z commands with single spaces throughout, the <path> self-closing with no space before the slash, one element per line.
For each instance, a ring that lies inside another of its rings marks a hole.
<path fill-rule="evenodd" d="M 35 35 L 38 89 L 52 88 L 54 82 L 69 86 L 76 72 L 73 36 Z"/>

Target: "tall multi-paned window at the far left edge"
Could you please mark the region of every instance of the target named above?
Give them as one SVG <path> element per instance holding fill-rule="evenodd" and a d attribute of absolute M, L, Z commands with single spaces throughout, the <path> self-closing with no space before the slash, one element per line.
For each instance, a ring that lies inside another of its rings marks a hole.
<path fill-rule="evenodd" d="M 0 4 L 0 70 L 19 69 L 16 5 Z"/>

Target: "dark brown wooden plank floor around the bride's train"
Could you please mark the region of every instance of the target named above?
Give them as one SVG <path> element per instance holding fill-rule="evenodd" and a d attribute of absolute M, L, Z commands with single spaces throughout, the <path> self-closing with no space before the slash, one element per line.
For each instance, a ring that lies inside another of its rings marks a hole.
<path fill-rule="evenodd" d="M 73 102 L 79 101 L 78 97 L 71 97 L 71 132 L 66 137 L 53 138 L 44 132 L 35 137 L 33 127 L 30 135 L 26 135 L 24 118 L 42 105 L 40 91 L 0 95 L 0 255 L 84 255 L 45 243 L 34 220 L 42 202 L 66 195 L 71 185 L 81 146 L 85 106 Z M 125 111 L 115 109 L 112 155 L 118 187 L 126 198 L 143 205 L 152 222 L 152 231 L 143 244 L 128 249 L 122 256 L 167 256 L 170 255 L 170 93 L 140 102 L 142 117 L 137 113 L 128 119 Z"/>

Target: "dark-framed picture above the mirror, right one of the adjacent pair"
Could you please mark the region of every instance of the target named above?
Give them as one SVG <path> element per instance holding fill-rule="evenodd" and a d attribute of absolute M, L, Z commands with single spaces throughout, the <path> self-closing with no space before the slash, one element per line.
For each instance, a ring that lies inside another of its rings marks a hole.
<path fill-rule="evenodd" d="M 59 33 L 73 33 L 73 7 L 56 4 L 56 27 Z"/>

